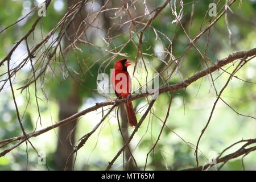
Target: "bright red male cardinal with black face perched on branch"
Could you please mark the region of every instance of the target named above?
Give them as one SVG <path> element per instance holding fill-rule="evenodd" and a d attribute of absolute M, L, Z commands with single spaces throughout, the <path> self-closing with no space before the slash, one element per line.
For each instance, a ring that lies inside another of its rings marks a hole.
<path fill-rule="evenodd" d="M 118 98 L 127 98 L 131 94 L 131 78 L 127 72 L 127 67 L 131 65 L 131 61 L 127 59 L 119 59 L 115 62 L 112 72 L 111 82 Z M 137 118 L 131 101 L 125 104 L 127 119 L 130 126 L 137 126 Z"/>

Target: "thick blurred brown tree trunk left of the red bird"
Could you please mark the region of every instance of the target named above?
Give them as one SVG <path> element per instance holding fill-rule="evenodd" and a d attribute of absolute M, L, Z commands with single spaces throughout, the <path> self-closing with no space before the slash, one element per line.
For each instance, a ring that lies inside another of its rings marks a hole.
<path fill-rule="evenodd" d="M 73 3 L 77 2 L 77 0 L 69 1 L 67 0 L 68 7 L 71 7 Z M 67 47 L 74 40 L 74 35 L 76 33 L 77 27 L 82 22 L 81 14 L 78 15 L 74 20 L 71 26 L 67 30 L 67 36 L 69 40 L 65 38 L 64 47 Z M 67 62 L 73 60 L 67 60 Z M 59 100 L 59 120 L 70 117 L 71 115 L 77 113 L 79 106 L 81 104 L 81 98 L 79 96 L 79 83 L 75 81 L 71 76 L 71 93 L 68 94 L 68 97 L 65 100 Z M 59 127 L 58 133 L 58 143 L 57 150 L 55 152 L 54 163 L 56 169 L 63 170 L 65 168 L 65 163 L 68 159 L 69 154 L 73 150 L 73 144 L 75 142 L 75 127 L 76 121 L 73 121 L 67 125 Z M 73 158 L 69 160 L 67 170 L 73 169 Z"/>

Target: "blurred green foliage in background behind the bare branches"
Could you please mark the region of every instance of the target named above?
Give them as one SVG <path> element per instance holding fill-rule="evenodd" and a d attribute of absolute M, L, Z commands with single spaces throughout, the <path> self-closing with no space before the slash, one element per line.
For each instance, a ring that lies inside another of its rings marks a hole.
<path fill-rule="evenodd" d="M 57 2 L 59 2 L 59 4 Z M 60 6 L 60 2 L 63 2 L 64 6 L 61 10 L 57 11 L 55 6 Z M 141 0 L 141 2 L 143 1 Z M 163 4 L 163 1 L 147 0 L 146 2 L 148 9 L 150 10 Z M 184 1 L 184 17 L 181 19 L 181 23 L 183 23 L 185 30 L 192 38 L 195 37 L 201 29 L 207 27 L 209 22 L 214 19 L 214 17 L 211 18 L 205 15 L 210 2 L 212 1 L 195 2 L 192 26 L 189 27 L 192 2 Z M 28 10 L 31 10 L 32 7 L 38 5 L 38 3 L 39 1 L 34 0 L 0 1 L 0 31 L 4 27 L 9 26 L 11 23 L 22 18 L 22 16 L 28 13 Z M 218 13 L 224 3 L 225 1 L 221 1 L 217 6 Z M 141 6 L 137 7 L 137 9 L 144 9 L 143 3 L 137 3 L 136 6 Z M 34 31 L 35 36 L 28 39 L 29 44 L 35 45 L 39 40 L 42 40 L 42 35 L 46 36 L 63 17 L 66 8 L 66 2 L 62 0 L 53 1 L 47 10 L 47 16 L 43 18 Z M 240 1 L 237 1 L 232 5 L 231 9 L 234 12 L 234 14 L 230 12 L 228 13 L 229 27 L 232 31 L 231 45 L 229 44 L 229 35 L 224 17 L 218 20 L 213 28 L 210 29 L 207 56 L 213 61 L 226 57 L 232 52 L 243 51 L 256 46 L 256 2 L 242 1 L 242 5 L 240 6 Z M 140 13 L 143 14 L 143 12 L 138 11 L 138 14 Z M 0 34 L 0 60 L 6 56 L 14 46 L 14 43 L 26 34 L 37 17 L 38 15 L 36 13 L 32 13 L 20 23 L 10 27 Z M 166 9 L 159 14 L 158 18 L 152 22 L 151 26 L 157 31 L 163 32 L 168 38 L 174 38 L 172 40 L 172 51 L 176 57 L 179 57 L 187 47 L 189 40 L 184 35 L 183 29 L 180 26 L 175 26 L 175 23 L 171 23 L 172 20 L 174 20 L 174 16 L 171 14 L 170 7 L 167 6 Z M 201 27 L 202 23 L 203 26 Z M 100 31 L 89 31 L 91 35 L 89 39 L 92 39 L 92 42 L 97 44 L 97 46 L 100 45 L 101 47 L 106 47 L 104 41 L 98 36 L 100 35 Z M 118 34 L 118 32 L 113 34 Z M 196 46 L 203 53 L 205 52 L 205 46 L 208 42 L 207 34 L 208 33 L 205 33 L 205 35 L 196 43 Z M 119 36 L 115 39 L 108 49 L 121 46 L 129 39 L 129 34 L 123 34 L 123 36 Z M 138 38 L 135 37 L 134 42 L 138 44 Z M 148 55 L 156 54 L 156 46 L 161 46 L 162 44 L 162 46 L 168 48 L 169 44 L 166 37 L 161 34 L 158 34 L 158 40 L 156 40 L 155 32 L 151 28 L 148 28 L 144 32 L 143 42 L 142 50 Z M 46 75 L 43 89 L 40 89 L 40 86 L 36 88 L 39 97 L 38 101 L 42 117 L 42 126 L 40 125 L 38 118 L 38 109 L 34 97 L 34 85 L 31 85 L 29 90 L 24 90 L 22 94 L 20 94 L 19 90 L 15 90 L 20 114 L 22 114 L 23 117 L 23 125 L 26 128 L 27 133 L 34 131 L 35 127 L 36 129 L 40 129 L 58 121 L 57 113 L 59 108 L 57 107 L 56 101 L 58 98 L 65 98 L 68 96 L 70 93 L 69 89 L 72 89 L 71 82 L 74 80 L 73 77 L 75 77 L 75 80 L 80 84 L 79 92 L 77 94 L 83 98 L 81 109 L 92 106 L 95 102 L 106 100 L 106 98 L 97 93 L 97 75 L 99 69 L 101 69 L 101 72 L 106 72 L 109 75 L 110 68 L 113 67 L 113 61 L 110 64 L 104 63 L 102 65 L 102 61 L 96 62 L 96 60 L 105 56 L 106 52 L 104 50 L 92 47 L 89 48 L 85 45 L 81 45 L 79 48 L 81 49 L 81 52 L 72 52 L 65 57 L 68 67 L 72 68 L 69 69 L 70 73 L 67 73 L 68 69 L 64 68 L 63 65 L 57 63 L 58 61 L 63 61 L 63 59 L 60 58 L 59 60 L 56 60 L 56 63 L 51 64 L 52 68 L 55 68 L 55 73 L 53 74 L 52 71 L 49 71 Z M 135 60 L 137 55 L 137 50 L 131 42 L 123 48 L 122 52 L 127 53 L 131 60 Z M 14 53 L 12 61 L 18 61 L 24 54 L 26 54 L 26 45 L 21 44 L 18 51 Z M 156 58 L 157 56 L 148 55 L 145 55 L 144 57 L 147 60 L 147 65 L 151 65 L 155 69 L 161 67 L 162 62 Z M 117 57 L 117 59 L 118 58 L 119 57 Z M 80 61 L 79 64 L 77 64 L 77 60 Z M 86 65 L 84 63 L 86 63 Z M 182 78 L 192 76 L 194 73 L 205 67 L 206 66 L 203 60 L 201 60 L 199 53 L 194 48 L 191 48 L 185 53 L 181 67 L 171 80 L 168 80 L 168 84 L 175 84 L 181 81 Z M 0 73 L 3 73 L 6 70 L 5 68 L 6 66 L 0 67 Z M 86 71 L 88 68 L 89 71 Z M 150 66 L 148 68 L 150 73 L 154 73 L 154 71 L 150 69 Z M 232 68 L 234 67 L 225 67 L 229 72 L 232 72 Z M 28 70 L 29 69 L 23 69 L 18 77 L 15 78 L 15 89 L 24 85 L 23 78 L 30 75 Z M 63 70 L 67 76 L 64 76 Z M 245 67 L 237 73 L 237 76 L 244 80 L 255 82 L 255 70 L 256 64 L 255 60 L 253 60 L 246 64 Z M 133 68 L 129 68 L 129 72 L 132 73 L 132 71 Z M 141 81 L 145 79 L 143 77 L 144 72 L 143 66 L 139 65 L 136 74 Z M 215 72 L 213 73 L 213 77 L 217 78 L 219 74 L 220 72 Z M 218 90 L 222 88 L 228 77 L 228 74 L 223 74 L 218 77 L 215 81 Z M 3 76 L 0 76 L 0 78 L 3 78 Z M 207 122 L 213 102 L 216 99 L 214 89 L 210 83 L 210 78 L 204 77 L 190 85 L 187 89 L 172 93 L 174 95 L 174 100 L 171 106 L 170 117 L 167 120 L 168 129 L 164 128 L 158 145 L 149 155 L 147 169 L 170 170 L 195 167 L 196 162 L 195 156 L 193 155 L 194 150 L 191 147 L 193 145 L 191 143 L 196 144 L 201 130 Z M 255 84 L 250 84 L 233 78 L 228 88 L 226 88 L 222 94 L 222 98 L 235 110 L 239 111 L 239 113 L 253 115 L 255 117 L 255 93 Z M 27 105 L 28 99 L 30 99 L 30 102 Z M 21 135 L 22 131 L 20 130 L 18 120 L 16 119 L 16 111 L 10 94 L 10 87 L 8 85 L 1 91 L 0 101 L 0 140 Z M 166 115 L 169 101 L 170 93 L 165 93 L 159 96 L 154 105 L 155 115 L 162 119 L 162 121 Z M 145 106 L 147 102 L 142 98 L 134 101 L 134 103 L 138 110 L 137 116 L 138 118 L 141 118 L 144 110 L 139 108 Z M 26 113 L 23 116 L 25 110 Z M 114 157 L 116 152 L 122 146 L 122 139 L 114 116 L 115 113 L 104 122 L 101 129 L 97 131 L 78 152 L 75 169 L 105 169 L 106 165 L 108 165 L 108 161 Z M 92 130 L 100 119 L 100 110 L 81 117 L 77 126 L 77 139 Z M 139 129 L 132 140 L 131 147 L 135 149 L 134 157 L 137 159 L 137 163 L 140 167 L 144 166 L 146 154 L 154 145 L 161 127 L 162 122 L 160 122 L 158 118 L 152 117 L 151 114 L 145 119 L 141 129 Z M 132 129 L 129 129 L 130 133 L 132 131 Z M 179 136 L 172 131 L 175 131 Z M 225 147 L 228 147 L 230 144 L 241 138 L 256 138 L 255 131 L 256 125 L 254 119 L 237 115 L 232 109 L 219 101 L 207 132 L 201 140 L 200 151 L 203 152 L 207 158 L 213 156 L 216 157 Z M 46 153 L 46 163 L 51 169 L 55 169 L 53 166 L 53 152 L 56 149 L 56 133 L 57 131 L 54 130 L 40 135 L 39 137 L 31 138 L 31 142 L 37 150 Z M 181 140 L 181 138 L 187 143 Z M 233 148 L 233 150 L 234 149 L 236 148 Z M 26 145 L 22 144 L 16 150 L 13 150 L 6 156 L 0 158 L 0 170 L 26 169 L 27 161 L 28 169 L 46 169 L 44 165 L 38 163 L 38 156 L 29 144 L 27 152 L 28 158 L 26 154 Z M 229 150 L 228 152 L 232 152 L 232 150 Z M 200 155 L 199 159 L 201 165 L 208 161 L 205 157 Z M 246 156 L 244 159 L 246 169 L 256 169 L 255 158 L 255 152 Z M 113 169 L 122 169 L 122 157 L 120 157 L 114 164 Z M 223 169 L 241 170 L 241 158 L 230 160 Z"/>

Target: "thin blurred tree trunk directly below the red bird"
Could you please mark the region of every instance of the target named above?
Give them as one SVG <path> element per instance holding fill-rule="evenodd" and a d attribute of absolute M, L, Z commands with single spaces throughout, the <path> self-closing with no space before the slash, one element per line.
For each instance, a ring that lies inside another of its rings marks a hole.
<path fill-rule="evenodd" d="M 127 114 L 126 114 L 126 110 L 125 110 L 125 106 L 124 105 L 121 105 L 120 106 L 120 113 L 121 113 L 121 132 L 123 134 L 123 144 L 125 144 L 125 141 L 127 139 L 129 139 L 129 133 L 128 133 L 128 119 L 127 119 Z M 128 170 L 128 171 L 135 171 L 137 168 L 136 166 L 134 165 L 134 162 L 133 162 L 133 158 L 131 158 L 131 153 L 129 151 L 129 148 L 130 148 L 130 151 L 133 152 L 133 150 L 131 150 L 131 147 L 130 147 L 130 143 L 127 145 L 127 147 L 125 148 L 125 162 L 126 165 L 125 165 L 125 170 Z"/>

